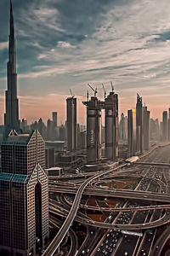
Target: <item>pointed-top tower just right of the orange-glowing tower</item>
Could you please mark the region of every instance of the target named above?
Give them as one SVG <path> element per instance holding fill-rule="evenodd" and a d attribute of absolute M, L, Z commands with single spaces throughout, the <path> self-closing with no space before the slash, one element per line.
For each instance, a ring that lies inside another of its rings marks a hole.
<path fill-rule="evenodd" d="M 143 105 L 142 97 L 137 94 L 136 103 L 136 150 L 143 153 L 144 136 L 143 136 Z"/>

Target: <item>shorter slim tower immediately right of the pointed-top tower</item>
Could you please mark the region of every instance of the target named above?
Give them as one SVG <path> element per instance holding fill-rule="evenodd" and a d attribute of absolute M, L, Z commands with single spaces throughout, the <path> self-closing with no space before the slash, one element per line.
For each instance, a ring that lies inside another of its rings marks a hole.
<path fill-rule="evenodd" d="M 144 150 L 150 149 L 150 111 L 143 107 Z"/>

